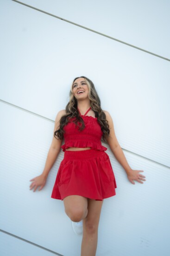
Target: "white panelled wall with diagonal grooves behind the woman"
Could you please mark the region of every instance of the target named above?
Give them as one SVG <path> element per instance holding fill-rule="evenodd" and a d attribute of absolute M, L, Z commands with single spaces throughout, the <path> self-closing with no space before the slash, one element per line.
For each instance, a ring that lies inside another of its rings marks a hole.
<path fill-rule="evenodd" d="M 63 152 L 44 189 L 29 190 L 80 75 L 147 178 L 130 184 L 108 149 L 118 188 L 103 203 L 96 256 L 170 254 L 169 10 L 167 0 L 0 0 L 0 255 L 80 256 L 82 237 L 50 198 Z"/>

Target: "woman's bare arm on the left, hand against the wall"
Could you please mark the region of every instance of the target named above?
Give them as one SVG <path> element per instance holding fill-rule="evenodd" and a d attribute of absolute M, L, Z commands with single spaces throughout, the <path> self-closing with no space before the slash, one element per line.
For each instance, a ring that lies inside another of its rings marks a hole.
<path fill-rule="evenodd" d="M 65 114 L 65 110 L 61 110 L 60 112 L 58 112 L 56 120 L 55 120 L 54 132 L 58 129 L 58 127 L 60 125 L 60 118 L 64 114 Z M 44 171 L 38 177 L 35 177 L 30 180 L 32 182 L 30 185 L 30 190 L 34 189 L 33 190 L 34 192 L 37 190 L 38 187 L 39 187 L 38 190 L 42 190 L 44 188 L 48 174 L 49 174 L 49 172 L 50 172 L 53 164 L 55 163 L 57 156 L 60 152 L 62 140 L 56 139 L 54 137 L 54 132 L 53 132 L 52 143 L 50 145 L 50 149 L 49 149 L 47 159 L 45 162 Z"/>

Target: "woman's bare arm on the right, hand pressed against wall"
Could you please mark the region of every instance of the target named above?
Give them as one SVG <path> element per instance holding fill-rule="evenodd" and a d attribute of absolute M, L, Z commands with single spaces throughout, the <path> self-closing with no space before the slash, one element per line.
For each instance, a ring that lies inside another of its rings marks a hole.
<path fill-rule="evenodd" d="M 106 119 L 108 121 L 110 134 L 107 138 L 107 143 L 109 144 L 109 147 L 111 151 L 113 152 L 115 158 L 118 160 L 118 162 L 122 165 L 124 170 L 126 171 L 128 180 L 132 183 L 134 183 L 134 180 L 138 181 L 139 183 L 143 183 L 145 181 L 145 176 L 142 175 L 138 170 L 132 170 L 132 168 L 127 163 L 126 157 L 120 147 L 120 144 L 116 138 L 115 132 L 114 132 L 114 126 L 113 126 L 113 120 L 110 116 L 110 114 L 107 111 L 104 111 L 106 114 Z"/>

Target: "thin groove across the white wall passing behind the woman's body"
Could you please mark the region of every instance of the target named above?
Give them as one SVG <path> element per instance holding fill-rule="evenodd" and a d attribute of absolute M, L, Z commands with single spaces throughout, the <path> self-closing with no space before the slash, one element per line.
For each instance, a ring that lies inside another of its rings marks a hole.
<path fill-rule="evenodd" d="M 14 104 L 12 104 L 12 103 L 9 103 L 9 102 L 7 102 L 7 101 L 5 101 L 5 100 L 0 99 L 0 102 L 4 103 L 4 104 L 6 104 L 6 105 L 10 105 L 10 106 L 12 106 L 12 107 L 15 107 L 15 108 L 17 108 L 17 109 L 19 109 L 19 110 L 21 110 L 21 111 L 27 112 L 27 113 L 29 113 L 29 114 L 31 114 L 31 115 L 37 116 L 38 118 L 43 118 L 43 119 L 45 119 L 45 120 L 47 120 L 47 121 L 50 121 L 50 122 L 52 122 L 52 123 L 55 123 L 55 121 L 52 120 L 52 119 L 50 119 L 50 118 L 46 118 L 46 117 L 41 116 L 41 115 L 39 115 L 39 114 L 37 114 L 37 113 L 35 113 L 35 112 L 31 112 L 31 111 L 29 111 L 29 110 L 27 110 L 27 109 L 24 109 L 24 108 L 22 108 L 22 107 L 19 107 L 19 106 L 17 106 L 17 105 L 14 105 Z M 102 141 L 102 142 L 104 142 L 105 144 L 107 144 L 105 141 Z M 108 144 L 107 144 L 107 145 L 108 145 Z M 121 147 L 121 148 L 122 148 L 122 147 Z M 157 161 L 154 161 L 154 160 L 152 160 L 152 159 L 150 159 L 150 158 L 143 157 L 143 156 L 141 156 L 141 155 L 139 155 L 139 154 L 137 154 L 137 153 L 134 153 L 134 152 L 132 152 L 132 151 L 126 150 L 126 149 L 124 149 L 124 148 L 122 148 L 122 150 L 123 150 L 123 151 L 126 151 L 126 152 L 129 152 L 129 153 L 133 154 L 134 156 L 138 156 L 138 157 L 143 158 L 143 159 L 146 159 L 146 160 L 148 160 L 148 161 L 150 161 L 150 162 L 152 162 L 152 163 L 155 163 L 155 164 L 158 164 L 158 165 L 160 165 L 160 166 L 163 166 L 163 167 L 166 167 L 166 168 L 170 169 L 170 166 L 168 166 L 168 165 L 161 164 L 161 163 L 159 163 L 159 162 L 157 162 Z"/>

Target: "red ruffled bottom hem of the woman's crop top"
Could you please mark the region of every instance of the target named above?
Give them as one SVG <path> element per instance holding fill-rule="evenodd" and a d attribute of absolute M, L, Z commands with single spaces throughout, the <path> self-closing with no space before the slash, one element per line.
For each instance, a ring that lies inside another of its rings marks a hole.
<path fill-rule="evenodd" d="M 65 151 L 68 148 L 91 148 L 99 151 L 106 151 L 107 148 L 101 144 L 95 143 L 93 141 L 68 141 L 66 144 L 63 144 L 61 148 Z"/>

